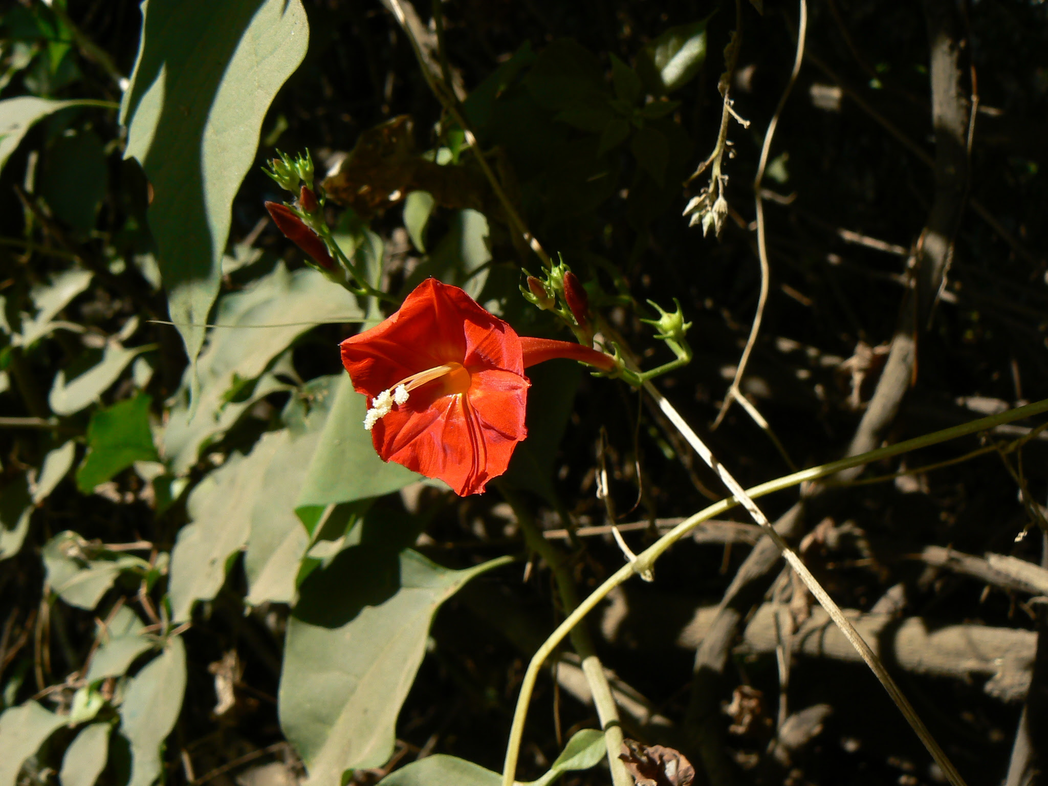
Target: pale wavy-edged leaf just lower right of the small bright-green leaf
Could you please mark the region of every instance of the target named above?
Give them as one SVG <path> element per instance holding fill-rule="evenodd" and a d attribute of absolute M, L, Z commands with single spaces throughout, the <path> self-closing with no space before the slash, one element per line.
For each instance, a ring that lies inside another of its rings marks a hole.
<path fill-rule="evenodd" d="M 174 621 L 189 619 L 196 601 L 211 601 L 222 588 L 232 558 L 247 543 L 252 508 L 277 446 L 278 440 L 266 439 L 246 457 L 231 455 L 190 495 L 192 523 L 179 530 L 171 552 L 168 591 Z M 290 500 L 283 504 L 290 507 Z"/>

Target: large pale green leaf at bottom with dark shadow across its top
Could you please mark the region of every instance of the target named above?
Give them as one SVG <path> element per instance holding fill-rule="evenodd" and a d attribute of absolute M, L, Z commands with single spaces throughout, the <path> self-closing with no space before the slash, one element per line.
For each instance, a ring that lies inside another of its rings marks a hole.
<path fill-rule="evenodd" d="M 470 578 L 506 560 L 447 570 L 383 536 L 314 571 L 288 621 L 280 720 L 310 784 L 341 783 L 393 752 L 400 705 L 422 661 L 433 615 Z"/>

